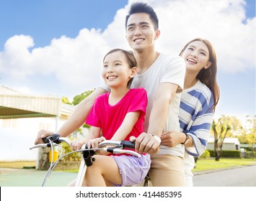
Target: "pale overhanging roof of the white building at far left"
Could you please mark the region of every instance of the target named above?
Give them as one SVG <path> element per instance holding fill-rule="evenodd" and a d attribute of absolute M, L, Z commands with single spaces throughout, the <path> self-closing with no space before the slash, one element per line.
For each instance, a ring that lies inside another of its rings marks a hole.
<path fill-rule="evenodd" d="M 21 93 L 0 85 L 0 118 L 70 116 L 74 106 L 61 97 Z"/>

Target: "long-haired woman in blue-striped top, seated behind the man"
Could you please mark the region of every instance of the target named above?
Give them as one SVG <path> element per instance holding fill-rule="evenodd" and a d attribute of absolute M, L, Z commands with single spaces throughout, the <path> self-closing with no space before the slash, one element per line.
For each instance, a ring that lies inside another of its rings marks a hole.
<path fill-rule="evenodd" d="M 219 101 L 217 62 L 215 50 L 207 39 L 196 38 L 188 42 L 180 56 L 186 65 L 179 112 L 181 132 L 165 132 L 161 139 L 167 146 L 177 143 L 185 146 L 185 184 L 193 186 L 193 156 L 199 157 L 206 150 L 213 113 Z"/>

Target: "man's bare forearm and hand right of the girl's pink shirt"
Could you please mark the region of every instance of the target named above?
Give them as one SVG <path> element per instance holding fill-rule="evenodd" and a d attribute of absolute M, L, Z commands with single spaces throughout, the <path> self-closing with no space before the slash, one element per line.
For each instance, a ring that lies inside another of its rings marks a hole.
<path fill-rule="evenodd" d="M 177 88 L 178 86 L 172 83 L 161 83 L 157 88 L 149 116 L 149 128 L 147 134 L 143 133 L 136 139 L 136 151 L 149 154 L 156 154 L 159 151 L 160 143 L 156 140 L 157 137 L 152 135 L 159 138 L 162 135 L 169 113 L 169 105 L 172 103 Z"/>

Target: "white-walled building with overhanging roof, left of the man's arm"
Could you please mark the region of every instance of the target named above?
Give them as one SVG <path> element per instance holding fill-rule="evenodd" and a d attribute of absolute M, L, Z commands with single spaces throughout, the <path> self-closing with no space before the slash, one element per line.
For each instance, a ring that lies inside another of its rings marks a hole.
<path fill-rule="evenodd" d="M 57 131 L 75 106 L 60 97 L 31 95 L 0 86 L 0 161 L 36 160 L 30 150 L 40 129 Z"/>

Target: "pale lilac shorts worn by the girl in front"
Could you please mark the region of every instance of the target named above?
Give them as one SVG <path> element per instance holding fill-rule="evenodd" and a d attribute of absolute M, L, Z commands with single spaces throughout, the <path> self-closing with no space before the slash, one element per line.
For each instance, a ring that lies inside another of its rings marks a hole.
<path fill-rule="evenodd" d="M 151 159 L 150 155 L 141 155 L 141 159 L 136 156 L 112 156 L 118 164 L 122 176 L 122 184 L 114 184 L 115 187 L 131 186 L 141 183 L 149 172 Z"/>

